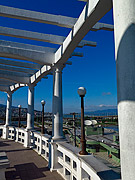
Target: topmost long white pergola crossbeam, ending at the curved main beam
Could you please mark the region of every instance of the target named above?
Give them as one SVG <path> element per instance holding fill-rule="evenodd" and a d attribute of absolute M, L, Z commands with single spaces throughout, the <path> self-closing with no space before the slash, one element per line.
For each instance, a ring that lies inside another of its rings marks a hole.
<path fill-rule="evenodd" d="M 0 16 L 72 28 L 76 18 L 0 5 Z"/>

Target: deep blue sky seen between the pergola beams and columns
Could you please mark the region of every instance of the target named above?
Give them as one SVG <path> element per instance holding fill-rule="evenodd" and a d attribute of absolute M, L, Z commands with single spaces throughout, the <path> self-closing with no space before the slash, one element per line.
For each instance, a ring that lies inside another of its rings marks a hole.
<path fill-rule="evenodd" d="M 1 5 L 12 6 L 22 9 L 35 10 L 50 14 L 60 14 L 70 17 L 78 17 L 85 3 L 77 0 L 3 0 Z M 20 21 L 0 17 L 0 26 L 17 29 L 32 30 L 42 33 L 67 36 L 70 29 L 58 26 L 40 24 L 34 22 Z M 112 11 L 106 14 L 100 22 L 113 24 Z M 15 42 L 26 42 L 30 44 L 43 45 L 47 47 L 58 47 L 49 43 L 23 40 L 17 38 L 3 37 L 1 39 Z M 84 57 L 72 57 L 72 65 L 67 65 L 63 70 L 63 106 L 64 113 L 79 112 L 80 98 L 77 89 L 84 86 L 87 90 L 85 97 L 85 111 L 97 109 L 114 108 L 117 104 L 116 90 L 116 67 L 114 58 L 114 32 L 98 31 L 89 32 L 84 38 L 96 41 L 97 47 L 77 48 L 76 51 L 83 52 Z M 35 87 L 35 109 L 40 110 L 40 101 L 45 99 L 46 111 L 52 108 L 52 86 L 53 77 L 42 79 Z M 27 107 L 27 91 L 24 87 L 13 94 L 13 105 L 22 104 Z M 0 103 L 6 104 L 6 94 L 0 93 Z"/>

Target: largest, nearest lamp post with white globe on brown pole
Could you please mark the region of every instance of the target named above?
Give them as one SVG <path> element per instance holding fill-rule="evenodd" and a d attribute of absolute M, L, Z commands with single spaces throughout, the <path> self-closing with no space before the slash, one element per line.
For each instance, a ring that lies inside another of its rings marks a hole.
<path fill-rule="evenodd" d="M 85 140 L 85 130 L 84 130 L 84 101 L 83 97 L 86 94 L 86 89 L 84 87 L 78 88 L 78 94 L 81 97 L 81 145 L 82 150 L 79 152 L 80 155 L 87 155 L 86 151 L 86 140 Z"/>

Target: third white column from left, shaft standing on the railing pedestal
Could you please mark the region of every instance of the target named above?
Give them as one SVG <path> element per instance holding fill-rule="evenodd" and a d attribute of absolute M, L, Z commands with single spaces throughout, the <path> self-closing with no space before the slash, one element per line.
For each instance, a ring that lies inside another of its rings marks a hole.
<path fill-rule="evenodd" d="M 52 139 L 63 139 L 62 66 L 53 71 L 53 130 Z"/>

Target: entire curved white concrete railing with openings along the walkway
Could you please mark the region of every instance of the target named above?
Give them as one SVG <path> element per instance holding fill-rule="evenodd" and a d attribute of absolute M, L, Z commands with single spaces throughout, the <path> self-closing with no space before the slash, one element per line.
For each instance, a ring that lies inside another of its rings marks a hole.
<path fill-rule="evenodd" d="M 4 126 L 0 126 L 0 129 Z M 4 130 L 3 130 L 4 132 Z M 93 155 L 79 155 L 80 149 L 66 141 L 53 141 L 49 135 L 8 127 L 8 139 L 31 147 L 49 163 L 50 170 L 65 180 L 119 180 L 119 176 Z M 111 173 L 111 177 L 110 177 Z"/>

